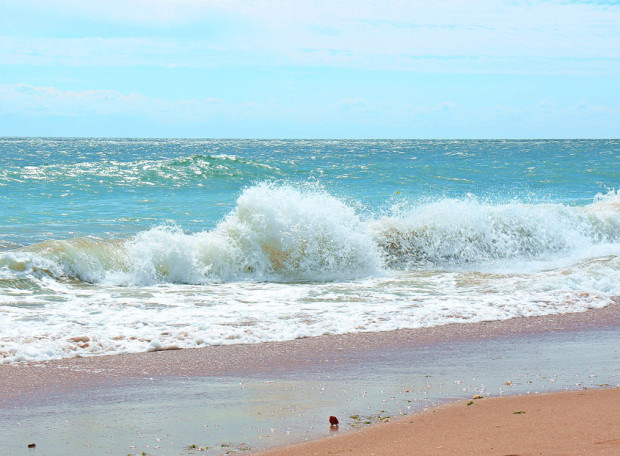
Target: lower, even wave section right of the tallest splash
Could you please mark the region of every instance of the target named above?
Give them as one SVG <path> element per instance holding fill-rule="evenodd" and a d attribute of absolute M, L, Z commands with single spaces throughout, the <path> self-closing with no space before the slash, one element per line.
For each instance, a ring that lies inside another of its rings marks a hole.
<path fill-rule="evenodd" d="M 443 199 L 371 222 L 385 263 L 396 269 L 561 259 L 620 242 L 620 196 L 584 207 Z"/>

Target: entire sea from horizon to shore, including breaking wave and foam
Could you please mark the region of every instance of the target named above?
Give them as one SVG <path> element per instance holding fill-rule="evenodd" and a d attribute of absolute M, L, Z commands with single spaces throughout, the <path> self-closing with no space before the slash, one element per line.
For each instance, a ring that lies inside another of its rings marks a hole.
<path fill-rule="evenodd" d="M 620 140 L 0 138 L 0 363 L 620 302 Z"/>

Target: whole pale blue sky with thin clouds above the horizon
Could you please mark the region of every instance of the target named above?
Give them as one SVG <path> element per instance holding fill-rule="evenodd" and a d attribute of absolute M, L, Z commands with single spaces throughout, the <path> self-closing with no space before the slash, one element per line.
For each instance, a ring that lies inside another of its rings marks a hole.
<path fill-rule="evenodd" d="M 0 0 L 0 136 L 618 138 L 620 1 Z"/>

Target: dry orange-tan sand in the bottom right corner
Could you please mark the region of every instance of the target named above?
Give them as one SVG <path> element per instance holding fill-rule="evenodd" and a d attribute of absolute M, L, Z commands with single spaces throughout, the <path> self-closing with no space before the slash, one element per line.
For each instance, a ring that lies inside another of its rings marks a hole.
<path fill-rule="evenodd" d="M 620 454 L 618 388 L 472 402 L 260 455 Z"/>

